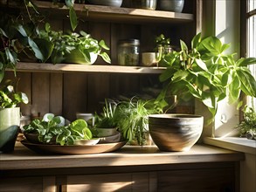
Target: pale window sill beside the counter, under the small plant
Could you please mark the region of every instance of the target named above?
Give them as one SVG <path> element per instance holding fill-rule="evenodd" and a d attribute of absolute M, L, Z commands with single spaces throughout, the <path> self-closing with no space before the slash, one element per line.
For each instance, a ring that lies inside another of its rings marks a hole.
<path fill-rule="evenodd" d="M 211 138 L 205 137 L 204 143 L 216 147 L 227 148 L 246 154 L 256 155 L 256 141 L 239 137 Z"/>

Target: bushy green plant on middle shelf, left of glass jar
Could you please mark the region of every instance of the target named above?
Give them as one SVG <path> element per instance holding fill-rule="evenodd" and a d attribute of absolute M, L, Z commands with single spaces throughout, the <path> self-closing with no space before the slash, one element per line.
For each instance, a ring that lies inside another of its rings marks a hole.
<path fill-rule="evenodd" d="M 66 59 L 74 58 L 78 62 L 91 62 L 91 53 L 99 55 L 107 63 L 110 63 L 110 58 L 106 51 L 109 50 L 104 40 L 98 40 L 91 37 L 85 31 L 80 31 L 80 34 L 75 32 L 63 33 L 63 31 L 52 31 L 50 24 L 45 24 L 45 29 L 38 34 L 39 38 L 43 38 L 53 45 L 51 59 L 52 63 L 65 62 Z M 73 54 L 73 55 L 72 55 Z"/>

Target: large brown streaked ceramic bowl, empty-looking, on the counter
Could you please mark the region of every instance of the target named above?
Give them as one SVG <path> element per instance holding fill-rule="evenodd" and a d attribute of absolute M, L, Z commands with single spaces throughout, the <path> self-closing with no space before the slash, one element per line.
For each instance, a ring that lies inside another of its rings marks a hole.
<path fill-rule="evenodd" d="M 202 134 L 204 117 L 193 114 L 149 115 L 149 134 L 161 151 L 189 151 Z"/>

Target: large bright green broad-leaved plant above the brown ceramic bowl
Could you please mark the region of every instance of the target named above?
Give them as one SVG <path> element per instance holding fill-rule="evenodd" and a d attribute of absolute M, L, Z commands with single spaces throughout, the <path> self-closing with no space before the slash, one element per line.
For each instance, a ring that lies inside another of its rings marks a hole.
<path fill-rule="evenodd" d="M 241 93 L 256 97 L 256 81 L 247 67 L 255 64 L 256 58 L 236 59 L 235 54 L 225 54 L 229 46 L 217 37 L 201 38 L 201 33 L 192 39 L 190 49 L 180 40 L 181 51 L 164 57 L 168 67 L 160 76 L 164 86 L 158 101 L 167 105 L 167 94 L 194 97 L 208 107 L 213 120 L 219 101 L 228 99 L 232 104 Z"/>

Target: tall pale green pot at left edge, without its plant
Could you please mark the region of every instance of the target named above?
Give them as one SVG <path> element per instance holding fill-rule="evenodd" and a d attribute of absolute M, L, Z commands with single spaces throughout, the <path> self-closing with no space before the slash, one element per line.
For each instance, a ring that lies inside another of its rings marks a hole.
<path fill-rule="evenodd" d="M 19 107 L 0 109 L 0 152 L 10 153 L 14 150 L 19 124 Z"/>

